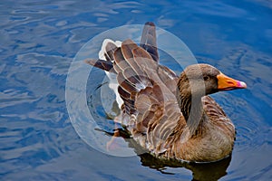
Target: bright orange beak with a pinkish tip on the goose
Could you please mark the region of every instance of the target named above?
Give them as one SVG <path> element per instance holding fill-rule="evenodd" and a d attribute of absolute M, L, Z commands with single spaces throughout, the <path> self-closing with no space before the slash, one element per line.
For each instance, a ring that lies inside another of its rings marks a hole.
<path fill-rule="evenodd" d="M 217 76 L 218 78 L 218 89 L 220 90 L 236 90 L 236 89 L 246 89 L 247 84 L 244 81 L 234 80 L 222 72 Z"/>

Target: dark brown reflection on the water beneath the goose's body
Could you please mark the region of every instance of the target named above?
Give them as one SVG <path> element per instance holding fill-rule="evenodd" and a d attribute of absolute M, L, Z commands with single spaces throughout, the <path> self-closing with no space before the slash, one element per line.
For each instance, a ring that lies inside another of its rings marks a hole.
<path fill-rule="evenodd" d="M 227 168 L 229 166 L 231 156 L 226 157 L 222 160 L 212 163 L 189 163 L 180 161 L 177 159 L 160 159 L 147 153 L 146 150 L 142 150 L 141 147 L 131 138 L 129 132 L 125 129 L 114 129 L 113 132 L 105 131 L 102 129 L 96 129 L 97 131 L 102 131 L 109 137 L 116 138 L 116 131 L 118 131 L 118 136 L 124 138 L 127 142 L 128 148 L 133 148 L 138 157 L 141 158 L 141 165 L 144 167 L 150 167 L 159 171 L 161 174 L 165 175 L 175 175 L 176 172 L 168 170 L 171 168 L 187 168 L 192 172 L 192 180 L 203 180 L 203 181 L 216 181 L 222 176 L 227 175 Z M 116 143 L 113 143 L 116 144 Z M 119 145 L 117 146 L 119 147 Z M 116 148 L 116 147 L 115 147 Z M 118 148 L 117 148 L 118 149 Z"/>

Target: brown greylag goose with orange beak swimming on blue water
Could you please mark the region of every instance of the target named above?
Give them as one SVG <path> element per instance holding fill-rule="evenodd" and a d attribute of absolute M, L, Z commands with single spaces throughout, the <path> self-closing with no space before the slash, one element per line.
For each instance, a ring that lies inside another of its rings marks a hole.
<path fill-rule="evenodd" d="M 235 127 L 209 94 L 247 88 L 209 64 L 189 65 L 180 76 L 159 64 L 155 25 L 147 23 L 138 46 L 107 43 L 106 60 L 86 60 L 117 74 L 123 100 L 115 118 L 142 148 L 161 158 L 212 162 L 228 157 Z"/>

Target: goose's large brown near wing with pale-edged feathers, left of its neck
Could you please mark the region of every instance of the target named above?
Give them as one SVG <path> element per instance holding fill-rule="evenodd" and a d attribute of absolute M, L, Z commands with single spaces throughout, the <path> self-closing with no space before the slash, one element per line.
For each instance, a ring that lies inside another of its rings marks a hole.
<path fill-rule="evenodd" d="M 181 116 L 170 89 L 176 86 L 176 81 L 167 77 L 171 71 L 161 68 L 149 52 L 131 40 L 124 41 L 114 52 L 113 68 L 124 100 L 123 111 L 131 116 L 126 126 L 133 138 L 155 154 L 164 152 L 166 140 Z"/>

